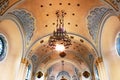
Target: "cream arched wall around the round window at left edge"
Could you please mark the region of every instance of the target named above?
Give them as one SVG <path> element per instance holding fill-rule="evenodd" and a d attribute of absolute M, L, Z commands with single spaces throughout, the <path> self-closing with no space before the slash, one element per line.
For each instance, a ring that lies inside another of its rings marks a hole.
<path fill-rule="evenodd" d="M 5 59 L 0 61 L 0 71 L 5 76 L 0 75 L 0 79 L 15 80 L 23 52 L 22 35 L 18 25 L 10 19 L 4 19 L 0 22 L 0 33 L 7 40 L 7 54 Z"/>

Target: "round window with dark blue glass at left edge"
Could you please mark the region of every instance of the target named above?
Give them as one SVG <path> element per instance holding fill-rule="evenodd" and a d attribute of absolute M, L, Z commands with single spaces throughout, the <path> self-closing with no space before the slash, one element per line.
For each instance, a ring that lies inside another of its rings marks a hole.
<path fill-rule="evenodd" d="M 0 34 L 0 61 L 5 58 L 6 55 L 6 40 L 3 35 Z"/>

